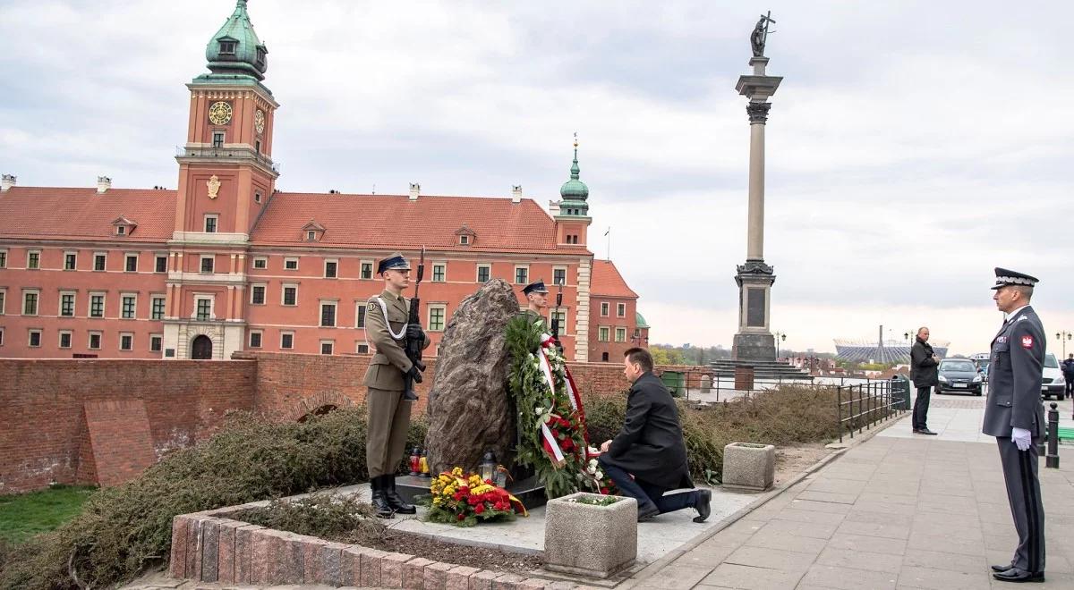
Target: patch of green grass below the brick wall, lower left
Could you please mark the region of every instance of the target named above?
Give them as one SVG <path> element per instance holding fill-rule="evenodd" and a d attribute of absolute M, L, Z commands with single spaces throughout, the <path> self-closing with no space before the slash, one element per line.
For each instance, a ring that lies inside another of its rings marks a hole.
<path fill-rule="evenodd" d="M 50 489 L 0 496 L 0 539 L 21 543 L 56 529 L 79 512 L 92 487 L 56 486 Z"/>

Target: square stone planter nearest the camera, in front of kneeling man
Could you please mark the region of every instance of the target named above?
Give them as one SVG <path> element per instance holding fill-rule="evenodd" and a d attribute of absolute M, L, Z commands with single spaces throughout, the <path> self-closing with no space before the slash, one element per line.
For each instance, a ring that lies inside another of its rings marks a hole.
<path fill-rule="evenodd" d="M 607 506 L 579 498 L 607 498 L 578 492 L 549 500 L 545 513 L 545 567 L 555 572 L 607 578 L 629 567 L 638 557 L 638 502 L 620 498 Z"/>

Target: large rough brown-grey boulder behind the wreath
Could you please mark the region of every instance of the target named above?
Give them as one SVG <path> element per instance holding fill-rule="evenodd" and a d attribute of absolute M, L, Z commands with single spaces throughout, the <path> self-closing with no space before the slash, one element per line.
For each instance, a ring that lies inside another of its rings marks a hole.
<path fill-rule="evenodd" d="M 463 299 L 451 316 L 429 396 L 429 468 L 475 469 L 487 449 L 508 464 L 516 421 L 507 395 L 509 358 L 504 330 L 519 299 L 502 279 Z"/>

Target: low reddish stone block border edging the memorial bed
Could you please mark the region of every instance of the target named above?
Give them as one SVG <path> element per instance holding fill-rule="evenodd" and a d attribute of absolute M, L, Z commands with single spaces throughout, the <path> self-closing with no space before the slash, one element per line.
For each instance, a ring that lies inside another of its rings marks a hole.
<path fill-rule="evenodd" d="M 229 518 L 241 511 L 266 505 L 268 502 L 251 502 L 176 516 L 172 520 L 171 577 L 206 582 L 321 584 L 415 590 L 563 587 L 562 581 L 331 543 Z"/>

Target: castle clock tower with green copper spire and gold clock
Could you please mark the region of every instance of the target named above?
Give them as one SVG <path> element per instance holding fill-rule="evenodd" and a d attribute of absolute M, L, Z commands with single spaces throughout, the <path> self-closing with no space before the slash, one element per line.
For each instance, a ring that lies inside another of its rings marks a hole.
<path fill-rule="evenodd" d="M 246 10 L 235 10 L 205 48 L 208 74 L 187 85 L 187 143 L 176 156 L 175 231 L 170 241 L 165 358 L 226 359 L 245 340 L 249 236 L 273 194 L 279 106 L 262 84 L 268 50 Z"/>

